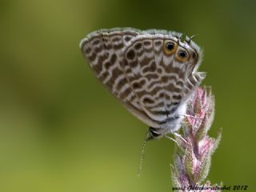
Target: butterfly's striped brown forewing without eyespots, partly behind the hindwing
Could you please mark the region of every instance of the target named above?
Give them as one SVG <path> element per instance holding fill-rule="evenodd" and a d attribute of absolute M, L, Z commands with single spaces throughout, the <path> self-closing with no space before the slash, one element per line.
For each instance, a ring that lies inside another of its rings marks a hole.
<path fill-rule="evenodd" d="M 80 47 L 90 68 L 110 93 L 142 122 L 149 126 L 157 126 L 140 106 L 121 65 L 122 49 L 140 33 L 140 30 L 130 28 L 99 30 L 87 35 L 80 43 Z"/>

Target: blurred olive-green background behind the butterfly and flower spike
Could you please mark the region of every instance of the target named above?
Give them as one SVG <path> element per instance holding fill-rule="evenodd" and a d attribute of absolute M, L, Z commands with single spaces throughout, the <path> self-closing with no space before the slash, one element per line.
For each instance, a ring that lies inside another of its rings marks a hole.
<path fill-rule="evenodd" d="M 146 125 L 98 82 L 78 48 L 86 34 L 131 26 L 176 30 L 204 48 L 203 84 L 222 142 L 208 179 L 256 190 L 256 2 L 253 0 L 2 0 L 0 191 L 170 191 L 174 143 L 148 142 Z"/>

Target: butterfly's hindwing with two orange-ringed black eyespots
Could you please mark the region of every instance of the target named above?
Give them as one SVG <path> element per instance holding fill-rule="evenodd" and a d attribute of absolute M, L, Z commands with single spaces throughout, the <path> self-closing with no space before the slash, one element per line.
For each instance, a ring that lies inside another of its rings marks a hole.
<path fill-rule="evenodd" d="M 167 42 L 173 43 L 174 51 L 165 50 Z M 188 54 L 186 59 L 178 58 L 182 51 Z M 183 115 L 177 114 L 178 107 L 202 82 L 203 73 L 192 73 L 199 65 L 197 51 L 188 42 L 179 42 L 179 34 L 158 31 L 140 34 L 124 48 L 126 78 L 142 109 L 158 127 L 167 124 L 177 129 L 168 122 Z"/>

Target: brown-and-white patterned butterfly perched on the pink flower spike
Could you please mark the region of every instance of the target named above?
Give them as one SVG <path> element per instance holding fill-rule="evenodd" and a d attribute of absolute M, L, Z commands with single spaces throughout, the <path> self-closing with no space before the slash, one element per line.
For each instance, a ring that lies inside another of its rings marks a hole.
<path fill-rule="evenodd" d="M 186 102 L 206 73 L 190 38 L 166 30 L 114 28 L 82 39 L 83 56 L 97 78 L 131 114 L 150 126 L 146 140 L 175 133 Z"/>

